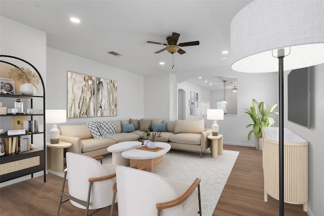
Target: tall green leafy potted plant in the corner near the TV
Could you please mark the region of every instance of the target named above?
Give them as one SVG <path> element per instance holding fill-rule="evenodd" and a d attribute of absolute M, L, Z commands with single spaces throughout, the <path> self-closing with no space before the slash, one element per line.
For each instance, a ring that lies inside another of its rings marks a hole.
<path fill-rule="evenodd" d="M 253 124 L 247 125 L 247 128 L 253 126 L 252 131 L 249 132 L 248 140 L 250 140 L 252 133 L 254 133 L 257 140 L 257 150 L 259 150 L 259 139 L 262 138 L 262 128 L 269 127 L 274 123 L 270 115 L 273 113 L 278 114 L 278 112 L 272 112 L 277 105 L 278 104 L 274 104 L 267 110 L 267 106 L 264 102 L 260 102 L 259 104 L 255 99 L 252 99 L 252 107 L 250 107 L 250 110 L 245 109 L 247 110 L 245 113 L 248 113 L 253 120 Z"/>

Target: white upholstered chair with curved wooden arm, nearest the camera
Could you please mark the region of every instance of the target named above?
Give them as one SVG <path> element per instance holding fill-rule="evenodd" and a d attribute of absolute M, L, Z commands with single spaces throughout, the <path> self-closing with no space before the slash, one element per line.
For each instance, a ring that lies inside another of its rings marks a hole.
<path fill-rule="evenodd" d="M 187 185 L 151 172 L 117 166 L 116 181 L 118 216 L 201 215 L 198 178 Z"/>

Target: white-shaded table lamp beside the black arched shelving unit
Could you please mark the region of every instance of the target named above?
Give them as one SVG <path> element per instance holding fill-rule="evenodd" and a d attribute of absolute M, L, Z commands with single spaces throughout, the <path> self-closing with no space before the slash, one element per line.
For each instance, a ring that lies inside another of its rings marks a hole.
<path fill-rule="evenodd" d="M 57 128 L 57 123 L 66 122 L 66 110 L 65 109 L 47 109 L 45 110 L 45 122 L 47 124 L 53 124 L 50 130 L 51 144 L 57 144 L 60 140 L 60 130 Z"/>

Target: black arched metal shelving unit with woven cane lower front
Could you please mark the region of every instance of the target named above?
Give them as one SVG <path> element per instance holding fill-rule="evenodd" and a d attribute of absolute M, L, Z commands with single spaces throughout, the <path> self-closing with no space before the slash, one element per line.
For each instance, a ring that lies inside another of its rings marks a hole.
<path fill-rule="evenodd" d="M 41 80 L 43 87 L 43 95 L 42 96 L 25 96 L 25 95 L 11 95 L 11 94 L 0 94 L 0 98 L 11 98 L 13 101 L 15 99 L 26 99 L 30 100 L 30 108 L 33 108 L 33 100 L 43 100 L 43 108 L 41 110 L 42 113 L 33 113 L 33 114 L 6 114 L 0 115 L 0 118 L 8 118 L 12 116 L 27 116 L 28 119 L 33 120 L 34 116 L 43 116 L 43 132 L 29 133 L 26 135 L 13 135 L 8 136 L 6 134 L 0 134 L 0 138 L 8 138 L 8 137 L 18 137 L 18 145 L 20 145 L 20 137 L 28 136 L 31 138 L 31 143 L 33 143 L 34 135 L 43 135 L 43 149 L 34 148 L 32 150 L 19 152 L 12 154 L 6 154 L 0 157 L 0 182 L 6 182 L 9 180 L 13 180 L 19 177 L 31 175 L 38 171 L 44 171 L 44 182 L 46 182 L 46 126 L 45 126 L 45 85 L 41 74 L 38 70 L 29 62 L 7 55 L 0 55 L 0 62 L 10 64 L 11 66 L 18 67 L 12 63 L 10 63 L 10 59 L 16 59 L 22 61 L 29 66 L 31 66 L 34 71 L 38 74 L 39 79 Z M 3 60 L 5 59 L 5 60 Z"/>

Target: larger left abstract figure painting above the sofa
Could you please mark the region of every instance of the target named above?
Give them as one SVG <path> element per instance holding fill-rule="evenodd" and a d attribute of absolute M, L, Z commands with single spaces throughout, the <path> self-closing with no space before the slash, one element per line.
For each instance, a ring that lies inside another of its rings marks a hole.
<path fill-rule="evenodd" d="M 67 71 L 67 117 L 95 116 L 95 77 Z"/>

